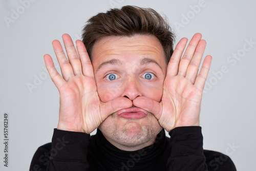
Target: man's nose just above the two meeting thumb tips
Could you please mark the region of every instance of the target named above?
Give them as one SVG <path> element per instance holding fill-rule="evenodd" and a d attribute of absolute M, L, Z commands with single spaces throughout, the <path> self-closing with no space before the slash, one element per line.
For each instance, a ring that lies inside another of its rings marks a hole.
<path fill-rule="evenodd" d="M 134 77 L 127 78 L 124 81 L 122 97 L 127 97 L 130 100 L 134 100 L 141 94 L 141 84 L 140 81 Z"/>

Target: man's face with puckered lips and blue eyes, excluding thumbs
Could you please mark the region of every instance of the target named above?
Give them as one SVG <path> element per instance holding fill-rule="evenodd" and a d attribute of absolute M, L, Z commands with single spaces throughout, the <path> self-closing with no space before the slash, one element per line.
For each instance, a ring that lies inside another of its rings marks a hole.
<path fill-rule="evenodd" d="M 161 101 L 167 65 L 155 36 L 100 39 L 93 47 L 92 64 L 102 102 L 117 97 L 134 100 L 138 96 Z M 153 114 L 135 106 L 113 113 L 99 129 L 113 145 L 132 151 L 151 145 L 162 127 Z"/>

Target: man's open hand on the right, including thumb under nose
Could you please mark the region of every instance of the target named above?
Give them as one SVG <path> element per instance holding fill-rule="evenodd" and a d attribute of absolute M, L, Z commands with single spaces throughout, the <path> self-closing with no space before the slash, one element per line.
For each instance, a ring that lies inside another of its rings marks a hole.
<path fill-rule="evenodd" d="M 179 126 L 199 125 L 202 94 L 211 63 L 211 56 L 206 56 L 198 73 L 206 46 L 201 38 L 199 33 L 193 36 L 182 58 L 187 39 L 182 38 L 177 44 L 168 63 L 160 103 L 147 97 L 133 100 L 135 106 L 153 113 L 167 132 Z"/>

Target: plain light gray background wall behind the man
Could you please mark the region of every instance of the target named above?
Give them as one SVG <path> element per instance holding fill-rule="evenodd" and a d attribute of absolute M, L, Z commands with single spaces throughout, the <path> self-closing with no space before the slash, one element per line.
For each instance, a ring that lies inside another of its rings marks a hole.
<path fill-rule="evenodd" d="M 56 60 L 52 40 L 60 40 L 63 33 L 76 40 L 92 15 L 124 5 L 151 7 L 165 14 L 177 41 L 202 33 L 207 41 L 205 55 L 213 56 L 201 109 L 204 148 L 228 154 L 238 170 L 256 170 L 256 45 L 247 43 L 256 42 L 255 1 L 29 2 L 0 2 L 0 170 L 28 170 L 37 147 L 51 141 L 57 126 L 58 91 L 43 60 L 45 53 Z M 196 5 L 201 7 L 194 12 Z M 14 19 L 8 24 L 7 17 Z M 9 114 L 8 168 L 3 166 L 5 112 Z"/>

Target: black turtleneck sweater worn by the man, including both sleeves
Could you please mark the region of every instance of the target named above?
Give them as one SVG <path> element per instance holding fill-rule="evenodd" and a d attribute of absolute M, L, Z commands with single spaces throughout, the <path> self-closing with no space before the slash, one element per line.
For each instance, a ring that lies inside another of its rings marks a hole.
<path fill-rule="evenodd" d="M 236 170 L 231 159 L 203 150 L 200 126 L 177 127 L 138 151 L 122 151 L 97 130 L 94 136 L 55 129 L 52 143 L 40 146 L 30 165 L 34 170 Z M 51 154 L 51 156 L 50 156 Z"/>

